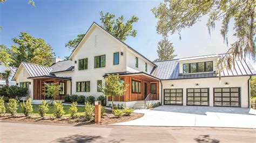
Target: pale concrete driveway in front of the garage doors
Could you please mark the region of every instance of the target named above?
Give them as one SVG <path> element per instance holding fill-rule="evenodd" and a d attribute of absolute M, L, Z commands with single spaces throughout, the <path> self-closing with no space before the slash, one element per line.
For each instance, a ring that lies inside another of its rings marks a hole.
<path fill-rule="evenodd" d="M 114 125 L 256 128 L 256 110 L 249 108 L 162 105 L 134 112 L 145 115 Z"/>

